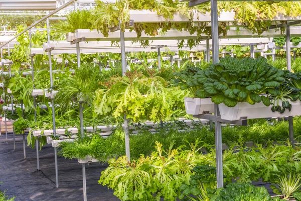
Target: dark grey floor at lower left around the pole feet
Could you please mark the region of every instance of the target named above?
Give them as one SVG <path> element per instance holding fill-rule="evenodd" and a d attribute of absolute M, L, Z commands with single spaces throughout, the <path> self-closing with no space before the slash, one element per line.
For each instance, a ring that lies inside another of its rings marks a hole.
<path fill-rule="evenodd" d="M 2 125 L 1 125 L 2 126 Z M 4 127 L 2 127 L 4 128 Z M 54 148 L 46 145 L 40 153 L 40 169 L 37 171 L 36 149 L 26 147 L 26 159 L 23 157 L 23 137 L 16 136 L 16 150 L 13 135 L 5 133 L 0 136 L 0 190 L 6 190 L 16 201 L 81 201 L 82 165 L 77 160 L 58 157 L 59 188 L 55 185 Z M 98 184 L 100 173 L 107 166 L 99 163 L 86 165 L 87 199 L 113 201 L 118 200 L 113 191 Z"/>

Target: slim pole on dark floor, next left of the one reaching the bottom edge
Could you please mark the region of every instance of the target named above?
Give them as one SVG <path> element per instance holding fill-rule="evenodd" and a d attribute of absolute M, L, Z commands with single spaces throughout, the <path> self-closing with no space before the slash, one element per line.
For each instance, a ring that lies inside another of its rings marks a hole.
<path fill-rule="evenodd" d="M 49 31 L 49 19 L 46 19 L 47 25 L 47 37 L 48 37 L 48 44 L 50 44 L 50 31 Z M 48 52 L 49 57 L 49 71 L 50 71 L 50 87 L 51 91 L 53 89 L 53 77 L 52 77 L 52 61 L 51 61 L 51 51 Z M 52 104 L 52 122 L 53 122 L 53 135 L 56 136 L 56 126 L 55 126 L 55 108 L 54 108 L 54 99 L 51 98 Z M 57 155 L 57 148 L 54 147 L 54 160 L 55 160 L 55 180 L 56 180 L 56 187 L 59 187 L 59 172 L 58 172 L 58 155 Z"/>

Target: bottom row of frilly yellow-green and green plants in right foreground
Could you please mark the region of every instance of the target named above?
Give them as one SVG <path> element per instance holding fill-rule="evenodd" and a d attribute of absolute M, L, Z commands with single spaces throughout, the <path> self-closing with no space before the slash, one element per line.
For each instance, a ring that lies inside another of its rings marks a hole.
<path fill-rule="evenodd" d="M 110 159 L 99 183 L 112 188 L 121 200 L 300 200 L 299 147 L 237 145 L 226 150 L 226 187 L 216 189 L 215 149 L 201 154 L 198 143 L 192 143 L 190 150 L 164 150 L 157 142 L 157 150 L 149 156 L 131 162 L 125 156 Z M 258 180 L 271 183 L 278 196 L 272 198 L 264 187 L 250 184 Z"/>

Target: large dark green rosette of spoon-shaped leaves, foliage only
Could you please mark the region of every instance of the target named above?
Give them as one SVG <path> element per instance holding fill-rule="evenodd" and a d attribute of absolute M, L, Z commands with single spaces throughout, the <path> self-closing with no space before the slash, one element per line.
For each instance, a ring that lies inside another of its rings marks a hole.
<path fill-rule="evenodd" d="M 261 94 L 276 90 L 274 88 L 284 81 L 283 74 L 263 57 L 241 60 L 228 57 L 208 69 L 198 71 L 192 82 L 201 87 L 199 97 L 211 96 L 215 104 L 224 103 L 234 107 L 238 102 L 254 105 L 262 101 L 269 106 L 269 98 Z"/>

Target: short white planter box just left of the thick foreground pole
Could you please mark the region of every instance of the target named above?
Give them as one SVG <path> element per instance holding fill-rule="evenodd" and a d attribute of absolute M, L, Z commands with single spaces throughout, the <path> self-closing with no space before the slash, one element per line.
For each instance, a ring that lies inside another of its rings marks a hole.
<path fill-rule="evenodd" d="M 214 113 L 214 103 L 211 98 L 185 97 L 186 113 L 190 115 Z"/>

